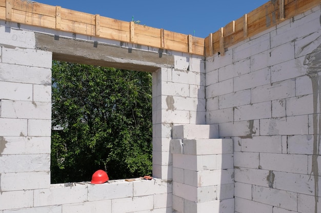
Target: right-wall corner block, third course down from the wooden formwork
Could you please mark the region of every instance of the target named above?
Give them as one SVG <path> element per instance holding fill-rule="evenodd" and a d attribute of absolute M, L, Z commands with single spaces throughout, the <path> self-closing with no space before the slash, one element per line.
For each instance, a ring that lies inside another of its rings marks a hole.
<path fill-rule="evenodd" d="M 228 79 L 207 86 L 206 98 L 222 96 L 222 94 L 228 94 L 231 92 L 233 92 L 233 79 Z"/>

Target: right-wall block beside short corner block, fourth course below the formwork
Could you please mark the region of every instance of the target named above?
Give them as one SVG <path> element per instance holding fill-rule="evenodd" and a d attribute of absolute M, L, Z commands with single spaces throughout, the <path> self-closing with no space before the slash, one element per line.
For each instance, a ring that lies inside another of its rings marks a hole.
<path fill-rule="evenodd" d="M 218 104 L 220 109 L 242 106 L 251 103 L 251 90 L 242 90 L 219 96 Z"/>

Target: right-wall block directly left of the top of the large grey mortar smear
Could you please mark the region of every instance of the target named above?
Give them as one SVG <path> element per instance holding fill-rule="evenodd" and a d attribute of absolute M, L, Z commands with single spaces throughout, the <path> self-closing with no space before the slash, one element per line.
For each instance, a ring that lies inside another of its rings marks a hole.
<path fill-rule="evenodd" d="M 304 57 L 271 66 L 271 82 L 274 83 L 306 75 L 307 70 L 303 67 L 303 61 Z M 284 72 L 284 70 L 291 70 L 291 72 Z"/>

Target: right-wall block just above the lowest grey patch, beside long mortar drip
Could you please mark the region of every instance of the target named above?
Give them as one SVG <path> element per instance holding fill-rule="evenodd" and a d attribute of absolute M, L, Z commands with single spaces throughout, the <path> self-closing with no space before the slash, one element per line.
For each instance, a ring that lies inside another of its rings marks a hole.
<path fill-rule="evenodd" d="M 259 157 L 264 170 L 308 174 L 307 155 L 260 153 Z"/>

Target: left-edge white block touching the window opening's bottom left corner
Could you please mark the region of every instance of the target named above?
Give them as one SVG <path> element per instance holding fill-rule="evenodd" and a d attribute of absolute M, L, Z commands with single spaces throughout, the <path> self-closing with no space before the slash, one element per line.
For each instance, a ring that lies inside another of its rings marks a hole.
<path fill-rule="evenodd" d="M 50 172 L 2 173 L 1 191 L 34 190 L 50 187 Z M 14 183 L 14 184 L 13 184 Z"/>

